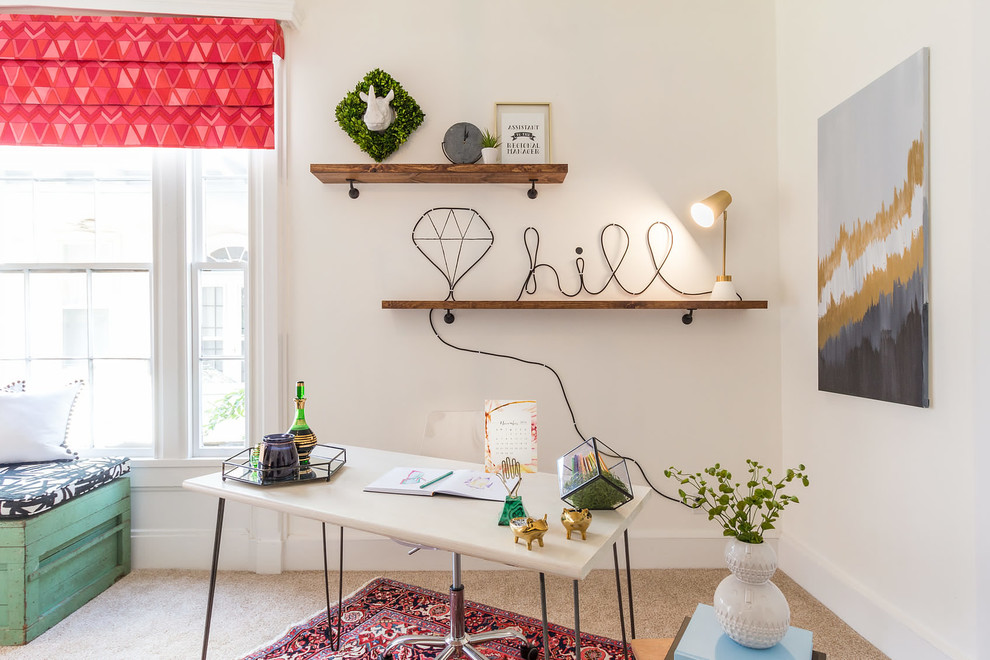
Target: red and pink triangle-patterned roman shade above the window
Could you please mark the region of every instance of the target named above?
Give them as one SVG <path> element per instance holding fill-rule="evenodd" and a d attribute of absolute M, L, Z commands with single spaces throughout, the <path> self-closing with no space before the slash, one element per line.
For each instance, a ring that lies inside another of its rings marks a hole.
<path fill-rule="evenodd" d="M 0 144 L 271 149 L 273 20 L 0 14 Z"/>

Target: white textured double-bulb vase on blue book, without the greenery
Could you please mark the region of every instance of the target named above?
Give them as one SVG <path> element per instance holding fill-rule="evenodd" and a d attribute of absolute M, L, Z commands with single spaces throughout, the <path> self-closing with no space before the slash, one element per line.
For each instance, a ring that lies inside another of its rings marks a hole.
<path fill-rule="evenodd" d="M 715 618 L 729 639 L 751 649 L 768 649 L 791 625 L 787 599 L 770 578 L 777 554 L 769 543 L 730 540 L 725 563 L 732 571 L 715 589 Z"/>

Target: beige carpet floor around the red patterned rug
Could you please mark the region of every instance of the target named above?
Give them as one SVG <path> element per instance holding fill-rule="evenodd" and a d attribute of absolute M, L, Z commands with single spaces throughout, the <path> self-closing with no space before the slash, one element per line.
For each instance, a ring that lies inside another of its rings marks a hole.
<path fill-rule="evenodd" d="M 728 574 L 708 570 L 633 571 L 636 636 L 672 637 L 699 602 L 711 602 Z M 347 571 L 344 594 L 378 573 Z M 446 592 L 449 572 L 388 572 L 385 577 Z M 465 571 L 466 597 L 539 618 L 539 579 L 525 571 Z M 829 660 L 886 658 L 804 589 L 779 571 L 774 583 L 787 596 L 791 623 L 814 633 Z M 10 660 L 200 657 L 209 574 L 135 571 L 27 646 L 0 647 Z M 547 609 L 554 623 L 573 625 L 570 580 L 547 577 Z M 621 639 L 611 571 L 593 571 L 580 583 L 581 629 Z M 331 598 L 336 574 L 331 574 Z M 209 658 L 238 658 L 280 636 L 325 607 L 322 572 L 282 575 L 221 573 L 217 579 Z M 628 625 L 628 620 L 627 620 Z M 368 659 L 377 660 L 377 659 Z"/>

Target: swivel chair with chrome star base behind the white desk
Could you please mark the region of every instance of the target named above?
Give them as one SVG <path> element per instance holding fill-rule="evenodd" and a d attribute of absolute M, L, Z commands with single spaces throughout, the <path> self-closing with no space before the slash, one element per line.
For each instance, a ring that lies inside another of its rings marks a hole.
<path fill-rule="evenodd" d="M 413 451 L 426 456 L 442 456 L 462 461 L 479 462 L 485 456 L 484 413 L 480 410 L 467 412 L 431 412 L 426 418 L 426 431 L 422 446 Z M 413 554 L 427 546 L 411 545 Z M 472 644 L 481 644 L 494 639 L 514 638 L 520 642 L 523 658 L 536 660 L 539 647 L 531 646 L 521 632 L 511 628 L 471 634 L 464 630 L 464 585 L 461 584 L 461 556 L 453 552 L 450 583 L 450 631 L 446 637 L 436 635 L 403 635 L 396 637 L 385 647 L 382 660 L 391 660 L 392 651 L 400 646 L 442 646 L 436 660 L 467 656 L 471 660 L 488 660 L 487 656 L 475 649 Z"/>

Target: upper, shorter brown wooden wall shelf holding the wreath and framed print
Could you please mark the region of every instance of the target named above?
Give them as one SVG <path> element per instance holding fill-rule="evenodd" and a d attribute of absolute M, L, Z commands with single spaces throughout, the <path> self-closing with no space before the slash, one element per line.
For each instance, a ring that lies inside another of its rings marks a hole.
<path fill-rule="evenodd" d="M 352 199 L 358 196 L 355 183 L 528 183 L 530 199 L 537 183 L 563 183 L 566 164 L 546 165 L 454 165 L 444 163 L 388 163 L 357 165 L 311 164 L 309 171 L 323 183 L 350 185 Z"/>

